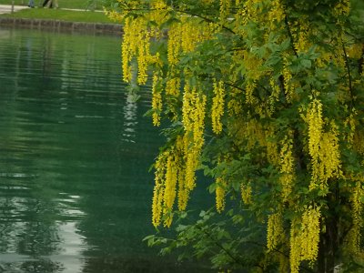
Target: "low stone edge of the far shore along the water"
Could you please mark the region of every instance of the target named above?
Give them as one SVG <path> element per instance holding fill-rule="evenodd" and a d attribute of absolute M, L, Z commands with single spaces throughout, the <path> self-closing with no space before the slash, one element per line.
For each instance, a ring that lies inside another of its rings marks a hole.
<path fill-rule="evenodd" d="M 121 25 L 104 24 L 104 23 L 82 23 L 68 22 L 62 20 L 45 20 L 45 19 L 25 19 L 0 17 L 0 26 L 16 26 L 37 30 L 53 30 L 53 31 L 71 31 L 77 33 L 95 33 L 108 35 L 122 35 L 123 30 Z"/>

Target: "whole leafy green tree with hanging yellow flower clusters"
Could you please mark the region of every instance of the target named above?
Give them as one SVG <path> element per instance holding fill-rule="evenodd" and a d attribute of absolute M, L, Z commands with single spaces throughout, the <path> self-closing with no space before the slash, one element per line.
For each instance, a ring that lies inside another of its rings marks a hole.
<path fill-rule="evenodd" d="M 228 212 L 179 226 L 166 251 L 189 244 L 217 268 L 269 272 L 364 265 L 361 5 L 113 1 L 124 80 L 150 78 L 149 114 L 167 127 L 153 225 L 170 227 L 186 211 L 197 169 L 214 180 L 217 214 Z"/>

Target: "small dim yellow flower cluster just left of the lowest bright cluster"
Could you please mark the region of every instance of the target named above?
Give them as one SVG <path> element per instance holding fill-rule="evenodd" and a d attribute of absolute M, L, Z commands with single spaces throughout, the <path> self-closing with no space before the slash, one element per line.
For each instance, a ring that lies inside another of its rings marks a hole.
<path fill-rule="evenodd" d="M 267 248 L 273 250 L 282 242 L 284 237 L 283 217 L 280 212 L 268 216 Z"/>

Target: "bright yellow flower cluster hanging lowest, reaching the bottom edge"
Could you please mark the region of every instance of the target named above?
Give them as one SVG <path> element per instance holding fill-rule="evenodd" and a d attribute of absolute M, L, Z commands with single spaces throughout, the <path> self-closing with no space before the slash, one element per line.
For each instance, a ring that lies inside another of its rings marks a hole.
<path fill-rule="evenodd" d="M 290 272 L 298 273 L 299 264 L 303 260 L 314 262 L 319 254 L 319 207 L 307 207 L 303 215 L 293 220 L 290 229 Z M 300 222 L 300 223 L 299 223 Z M 299 225 L 300 224 L 300 225 Z"/>

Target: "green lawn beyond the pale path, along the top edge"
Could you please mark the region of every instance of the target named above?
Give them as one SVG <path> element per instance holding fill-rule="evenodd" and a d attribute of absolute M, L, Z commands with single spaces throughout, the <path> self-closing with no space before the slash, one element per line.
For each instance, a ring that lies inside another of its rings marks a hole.
<path fill-rule="evenodd" d="M 42 6 L 44 0 L 35 0 L 35 6 Z M 0 0 L 0 5 L 11 5 L 12 0 Z M 28 0 L 14 0 L 15 5 L 28 5 Z M 90 8 L 95 3 L 97 9 L 102 9 L 102 0 L 58 0 L 60 8 Z"/>

